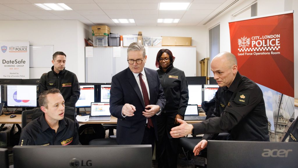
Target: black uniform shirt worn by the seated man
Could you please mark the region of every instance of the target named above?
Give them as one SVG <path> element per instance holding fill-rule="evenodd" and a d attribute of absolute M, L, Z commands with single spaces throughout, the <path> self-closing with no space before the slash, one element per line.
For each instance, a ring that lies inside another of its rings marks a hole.
<path fill-rule="evenodd" d="M 19 145 L 78 145 L 79 136 L 74 121 L 59 120 L 57 133 L 46 123 L 44 114 L 32 120 L 22 130 Z"/>

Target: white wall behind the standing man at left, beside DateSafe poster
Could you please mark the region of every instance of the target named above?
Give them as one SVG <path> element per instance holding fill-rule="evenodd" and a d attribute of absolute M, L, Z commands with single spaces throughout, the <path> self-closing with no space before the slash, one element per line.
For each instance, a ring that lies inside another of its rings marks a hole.
<path fill-rule="evenodd" d="M 29 41 L 30 45 L 54 45 L 54 52 L 66 54 L 66 69 L 75 73 L 79 82 L 85 82 L 84 38 L 90 34 L 87 25 L 75 20 L 1 21 L 0 32 L 3 42 Z M 44 57 L 52 58 L 52 55 Z M 30 78 L 40 78 L 45 72 L 39 73 L 37 77 Z"/>

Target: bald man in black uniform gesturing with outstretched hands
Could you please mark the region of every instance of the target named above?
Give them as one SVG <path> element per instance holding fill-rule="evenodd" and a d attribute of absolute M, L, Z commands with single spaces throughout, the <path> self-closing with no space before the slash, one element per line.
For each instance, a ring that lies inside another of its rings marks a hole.
<path fill-rule="evenodd" d="M 198 135 L 228 131 L 231 140 L 269 141 L 263 92 L 252 80 L 240 75 L 237 68 L 237 59 L 232 53 L 222 52 L 212 59 L 211 70 L 219 85 L 215 94 L 215 115 L 196 124 L 187 124 L 178 119 L 181 125 L 170 132 L 173 138 L 190 133 Z M 204 136 L 195 146 L 195 155 L 207 146 L 206 140 L 212 136 Z"/>

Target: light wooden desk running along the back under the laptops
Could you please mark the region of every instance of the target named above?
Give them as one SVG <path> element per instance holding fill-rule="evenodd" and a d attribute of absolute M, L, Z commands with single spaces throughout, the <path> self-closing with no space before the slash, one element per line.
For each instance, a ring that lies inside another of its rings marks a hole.
<path fill-rule="evenodd" d="M 15 114 L 15 115 L 16 117 L 10 118 L 10 115 L 2 114 L 0 116 L 0 124 L 21 124 L 22 114 Z M 186 121 L 186 122 L 189 124 L 193 124 L 201 121 Z M 114 116 L 111 116 L 111 120 L 109 121 L 87 121 L 87 122 L 79 122 L 79 124 L 117 124 L 117 118 Z"/>

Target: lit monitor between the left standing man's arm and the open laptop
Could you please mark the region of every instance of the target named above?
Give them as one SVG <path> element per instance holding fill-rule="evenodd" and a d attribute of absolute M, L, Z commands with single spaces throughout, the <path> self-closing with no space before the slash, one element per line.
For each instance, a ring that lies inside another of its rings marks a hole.
<path fill-rule="evenodd" d="M 80 98 L 75 103 L 75 107 L 90 107 L 91 102 L 97 101 L 96 85 L 81 85 Z"/>

